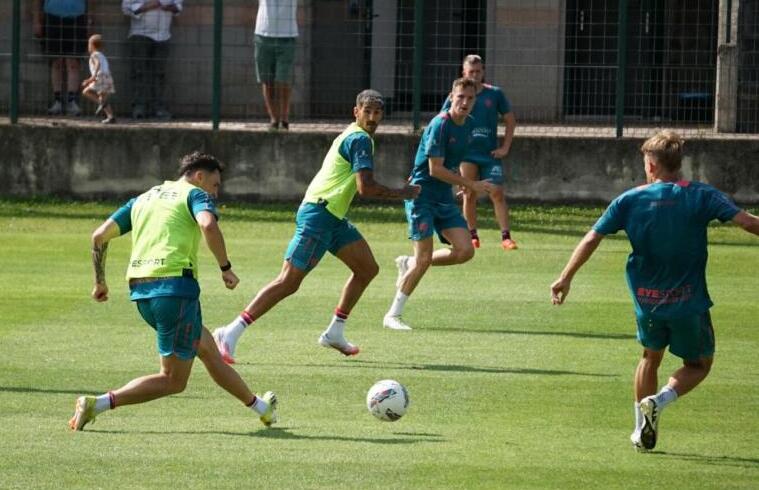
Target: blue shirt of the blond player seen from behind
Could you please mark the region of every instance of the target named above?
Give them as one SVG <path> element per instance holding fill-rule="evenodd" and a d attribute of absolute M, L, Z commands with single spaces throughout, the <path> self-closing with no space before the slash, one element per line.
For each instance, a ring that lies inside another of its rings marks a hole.
<path fill-rule="evenodd" d="M 706 289 L 710 221 L 730 221 L 740 209 L 699 182 L 657 182 L 620 195 L 596 222 L 602 235 L 625 230 L 632 245 L 627 284 L 638 316 L 698 315 L 712 306 Z"/>

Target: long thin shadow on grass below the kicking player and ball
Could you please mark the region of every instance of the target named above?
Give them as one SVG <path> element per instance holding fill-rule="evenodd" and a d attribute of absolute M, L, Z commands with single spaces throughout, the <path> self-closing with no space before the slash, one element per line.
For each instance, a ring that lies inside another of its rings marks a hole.
<path fill-rule="evenodd" d="M 233 436 L 233 437 L 259 437 L 262 439 L 280 439 L 291 441 L 341 441 L 341 442 L 366 442 L 370 444 L 418 444 L 421 442 L 444 442 L 445 438 L 440 434 L 429 434 L 424 432 L 393 432 L 395 437 L 348 437 L 338 435 L 312 435 L 312 434 L 299 434 L 294 432 L 294 427 L 271 427 L 269 429 L 261 429 L 258 431 L 249 432 L 231 432 L 231 431 L 214 431 L 214 430 L 103 430 L 103 429 L 88 429 L 86 432 L 92 434 L 124 434 L 124 435 L 187 435 L 187 436 L 202 436 L 202 435 L 219 435 L 219 436 Z"/>

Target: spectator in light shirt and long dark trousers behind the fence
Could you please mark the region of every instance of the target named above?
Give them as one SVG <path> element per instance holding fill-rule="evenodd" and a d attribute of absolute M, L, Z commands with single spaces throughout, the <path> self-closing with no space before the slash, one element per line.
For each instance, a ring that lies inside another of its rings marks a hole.
<path fill-rule="evenodd" d="M 129 57 L 132 65 L 132 117 L 171 119 L 164 99 L 171 21 L 183 0 L 122 0 L 131 18 Z"/>

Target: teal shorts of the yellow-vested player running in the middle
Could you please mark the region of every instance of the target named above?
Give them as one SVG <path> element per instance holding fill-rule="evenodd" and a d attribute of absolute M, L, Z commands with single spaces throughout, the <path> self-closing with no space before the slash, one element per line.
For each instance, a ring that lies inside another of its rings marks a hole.
<path fill-rule="evenodd" d="M 295 216 L 295 235 L 285 251 L 285 260 L 303 271 L 310 271 L 324 254 L 332 255 L 364 237 L 347 219 L 327 211 L 326 203 L 303 203 Z"/>

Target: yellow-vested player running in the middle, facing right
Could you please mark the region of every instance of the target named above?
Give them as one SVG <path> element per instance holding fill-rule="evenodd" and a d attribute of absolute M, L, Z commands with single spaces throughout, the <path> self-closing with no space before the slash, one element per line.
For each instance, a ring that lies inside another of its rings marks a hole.
<path fill-rule="evenodd" d="M 345 215 L 356 192 L 361 197 L 384 199 L 412 199 L 419 194 L 416 185 L 390 189 L 374 180 L 373 136 L 383 114 L 384 101 L 379 92 L 364 90 L 358 94 L 353 108 L 355 122 L 335 138 L 321 170 L 306 190 L 279 276 L 264 286 L 232 323 L 214 331 L 219 351 L 228 363 L 235 362 L 235 346 L 245 328 L 295 293 L 327 251 L 347 265 L 352 274 L 319 344 L 346 356 L 358 354 L 359 348 L 345 339 L 345 323 L 379 266 L 369 244 Z"/>

